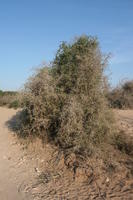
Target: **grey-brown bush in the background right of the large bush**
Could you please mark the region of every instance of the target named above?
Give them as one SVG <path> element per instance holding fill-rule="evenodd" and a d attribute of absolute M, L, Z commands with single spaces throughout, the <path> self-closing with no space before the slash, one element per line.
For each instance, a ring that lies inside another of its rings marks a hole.
<path fill-rule="evenodd" d="M 133 109 L 133 80 L 113 89 L 108 94 L 108 100 L 113 108 Z"/>

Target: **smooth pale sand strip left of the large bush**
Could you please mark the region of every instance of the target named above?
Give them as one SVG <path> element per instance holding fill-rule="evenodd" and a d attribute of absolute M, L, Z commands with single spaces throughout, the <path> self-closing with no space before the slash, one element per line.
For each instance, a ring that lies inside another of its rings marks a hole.
<path fill-rule="evenodd" d="M 0 108 L 0 200 L 31 200 L 34 169 L 30 170 L 24 151 L 6 125 L 15 114 L 13 109 Z"/>

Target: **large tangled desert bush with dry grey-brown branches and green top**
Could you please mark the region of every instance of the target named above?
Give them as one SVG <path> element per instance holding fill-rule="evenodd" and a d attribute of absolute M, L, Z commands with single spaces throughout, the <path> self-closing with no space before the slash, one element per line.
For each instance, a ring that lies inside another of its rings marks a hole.
<path fill-rule="evenodd" d="M 96 38 L 63 42 L 51 66 L 38 70 L 25 86 L 22 133 L 75 153 L 91 153 L 106 142 L 112 132 L 106 64 Z"/>

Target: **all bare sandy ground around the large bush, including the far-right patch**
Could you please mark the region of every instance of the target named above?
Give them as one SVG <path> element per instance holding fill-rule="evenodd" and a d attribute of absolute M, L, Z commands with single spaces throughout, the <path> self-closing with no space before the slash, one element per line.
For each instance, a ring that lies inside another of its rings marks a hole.
<path fill-rule="evenodd" d="M 56 168 L 56 163 L 54 167 L 50 167 L 50 159 L 53 160 L 53 152 L 56 154 L 56 150 L 47 146 L 41 152 L 39 143 L 36 143 L 39 154 L 33 154 L 33 145 L 31 154 L 30 147 L 28 151 L 23 149 L 24 146 L 20 145 L 7 126 L 7 122 L 16 112 L 13 109 L 0 108 L 0 200 L 133 199 L 133 183 L 129 185 L 126 179 L 122 180 L 122 185 L 115 182 L 114 178 L 109 182 L 108 177 L 104 177 L 97 187 L 96 182 L 91 183 L 90 174 L 86 184 L 78 176 L 74 180 L 72 173 L 64 169 L 63 163 L 60 163 L 60 169 Z M 119 126 L 133 135 L 133 111 L 115 110 L 115 113 Z M 42 166 L 43 174 L 40 171 Z M 82 173 L 82 170 L 78 173 Z M 42 182 L 40 180 L 37 183 L 39 175 L 42 176 Z M 102 188 L 102 194 L 99 188 Z"/>

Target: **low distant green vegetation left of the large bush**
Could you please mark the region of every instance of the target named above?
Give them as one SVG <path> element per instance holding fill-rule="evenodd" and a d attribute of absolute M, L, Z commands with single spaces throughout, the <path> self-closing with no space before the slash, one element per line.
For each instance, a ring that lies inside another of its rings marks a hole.
<path fill-rule="evenodd" d="M 15 109 L 20 107 L 18 92 L 0 90 L 0 106 L 8 106 Z"/>

